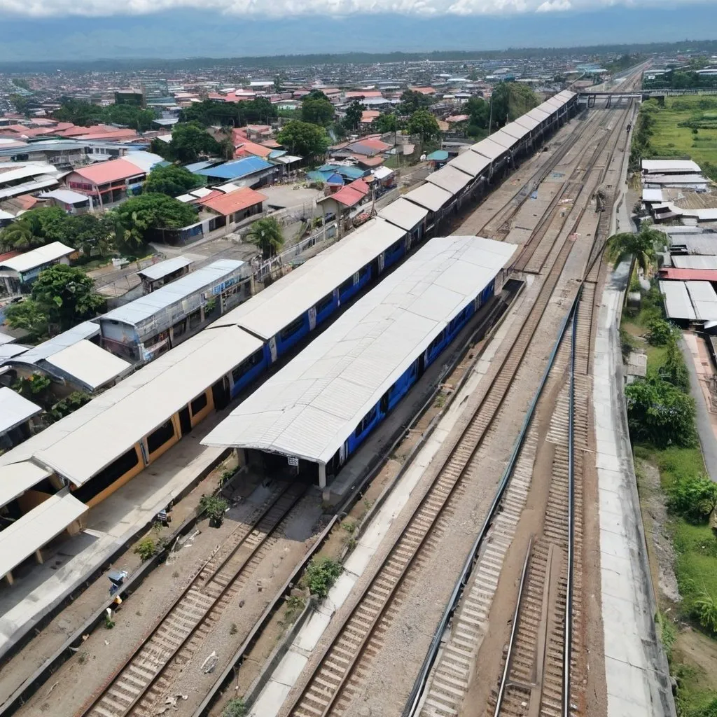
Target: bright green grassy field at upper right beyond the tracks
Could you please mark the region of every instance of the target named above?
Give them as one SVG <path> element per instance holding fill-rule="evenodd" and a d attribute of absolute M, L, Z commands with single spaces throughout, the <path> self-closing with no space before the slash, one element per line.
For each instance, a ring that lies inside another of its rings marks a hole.
<path fill-rule="evenodd" d="M 646 103 L 654 105 L 650 100 Z M 652 112 L 655 125 L 650 137 L 650 152 L 643 156 L 690 158 L 700 166 L 717 166 L 717 97 L 694 96 L 669 98 L 665 107 Z M 679 127 L 690 123 L 690 127 Z M 697 130 L 695 134 L 693 129 Z"/>

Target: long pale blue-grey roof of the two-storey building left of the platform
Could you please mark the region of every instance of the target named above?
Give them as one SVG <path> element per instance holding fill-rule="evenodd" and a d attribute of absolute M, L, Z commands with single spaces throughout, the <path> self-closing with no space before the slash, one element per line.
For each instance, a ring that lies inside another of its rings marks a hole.
<path fill-rule="evenodd" d="M 179 303 L 192 294 L 221 281 L 222 278 L 235 272 L 244 262 L 234 259 L 222 259 L 212 262 L 206 267 L 201 267 L 191 274 L 186 274 L 181 279 L 166 284 L 153 291 L 151 294 L 141 296 L 130 303 L 108 311 L 103 314 L 101 320 L 120 321 L 130 326 L 146 321 L 148 318 L 162 311 L 172 304 Z"/>

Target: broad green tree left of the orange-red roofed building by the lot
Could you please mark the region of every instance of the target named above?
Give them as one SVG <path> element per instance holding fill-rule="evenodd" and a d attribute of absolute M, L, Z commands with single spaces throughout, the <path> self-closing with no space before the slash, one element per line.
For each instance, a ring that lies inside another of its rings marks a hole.
<path fill-rule="evenodd" d="M 112 211 L 115 237 L 125 247 L 138 248 L 156 229 L 180 229 L 196 222 L 196 209 L 166 194 L 133 196 Z"/>

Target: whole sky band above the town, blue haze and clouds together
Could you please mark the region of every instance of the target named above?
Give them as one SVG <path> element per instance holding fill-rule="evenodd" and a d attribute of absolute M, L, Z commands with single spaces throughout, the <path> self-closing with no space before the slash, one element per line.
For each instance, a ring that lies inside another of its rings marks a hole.
<path fill-rule="evenodd" d="M 715 0 L 145 1 L 0 0 L 0 62 L 717 39 Z"/>

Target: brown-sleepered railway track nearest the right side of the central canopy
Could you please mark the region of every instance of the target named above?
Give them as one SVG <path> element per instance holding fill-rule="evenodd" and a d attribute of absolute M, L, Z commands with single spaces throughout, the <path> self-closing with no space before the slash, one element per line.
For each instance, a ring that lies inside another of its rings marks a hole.
<path fill-rule="evenodd" d="M 505 356 L 480 406 L 359 602 L 324 650 L 308 683 L 293 699 L 289 714 L 300 717 L 339 715 L 351 703 L 367 664 L 364 661 L 371 660 L 381 648 L 381 635 L 391 622 L 391 604 L 394 600 L 400 602 L 398 596 L 412 570 L 436 549 L 440 536 L 450 527 L 450 516 L 476 467 L 478 447 L 513 384 L 573 245 L 569 239 L 562 244 L 521 333 Z"/>

